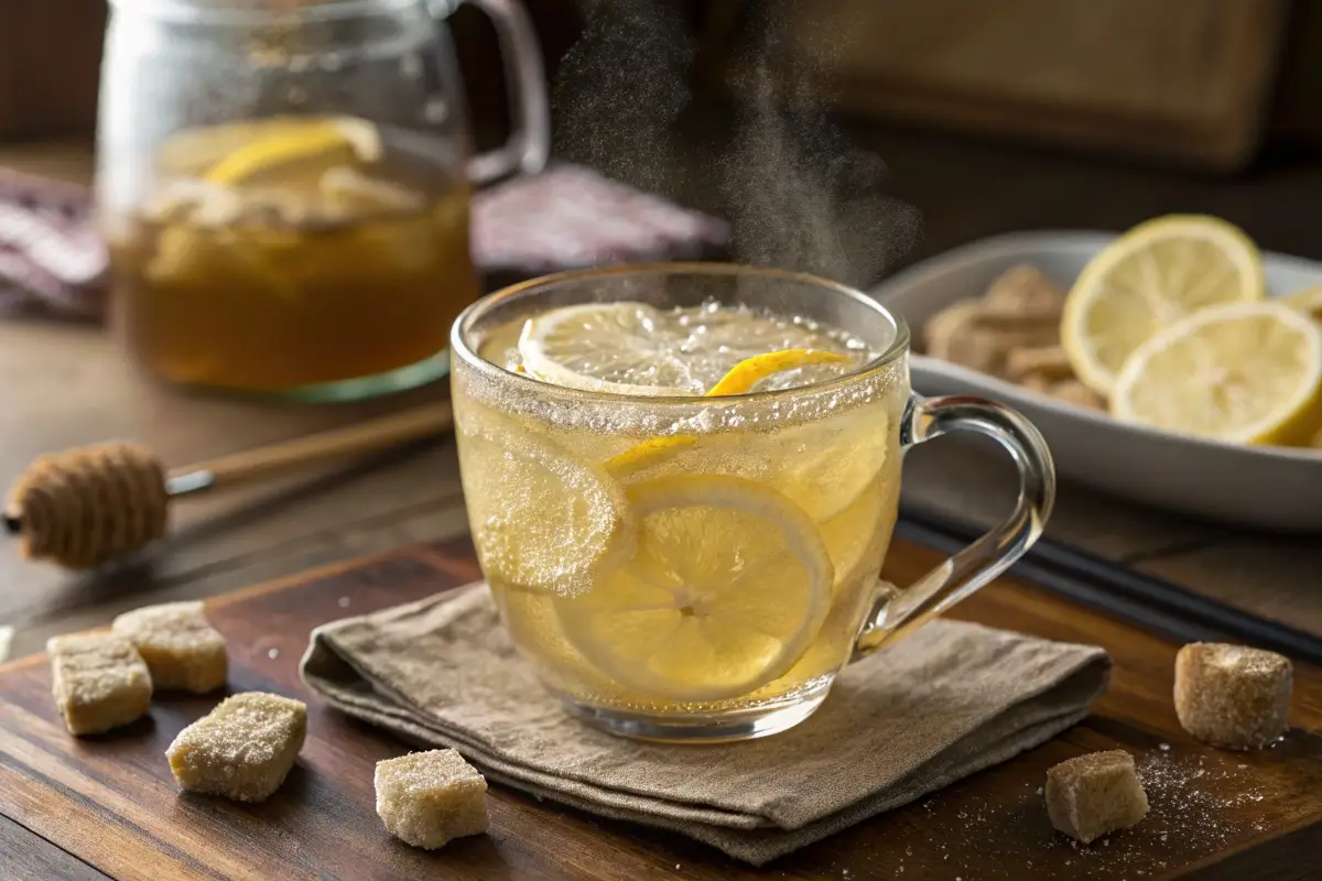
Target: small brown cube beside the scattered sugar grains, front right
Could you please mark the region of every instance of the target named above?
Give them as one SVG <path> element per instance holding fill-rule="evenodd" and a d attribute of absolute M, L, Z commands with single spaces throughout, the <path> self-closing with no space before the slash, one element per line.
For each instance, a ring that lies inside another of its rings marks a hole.
<path fill-rule="evenodd" d="M 1060 832 L 1088 844 L 1147 815 L 1134 757 L 1122 749 L 1089 753 L 1047 771 L 1047 815 Z"/>

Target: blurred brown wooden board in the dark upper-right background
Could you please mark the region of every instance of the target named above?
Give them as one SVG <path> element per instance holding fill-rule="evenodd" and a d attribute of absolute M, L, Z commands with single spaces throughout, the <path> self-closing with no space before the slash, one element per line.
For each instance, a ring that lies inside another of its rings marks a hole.
<path fill-rule="evenodd" d="M 735 5 L 758 4 L 715 4 L 709 36 L 732 30 Z M 841 106 L 871 119 L 1218 170 L 1257 151 L 1289 11 L 1285 0 L 783 5 L 783 38 L 761 58 L 787 96 L 824 70 Z"/>

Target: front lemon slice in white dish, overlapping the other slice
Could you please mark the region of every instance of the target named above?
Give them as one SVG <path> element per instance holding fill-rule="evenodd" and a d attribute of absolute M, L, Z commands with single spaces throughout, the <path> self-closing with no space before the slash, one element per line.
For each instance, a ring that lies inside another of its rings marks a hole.
<path fill-rule="evenodd" d="M 1318 428 L 1322 325 L 1259 302 L 1192 314 L 1130 357 L 1112 398 L 1125 421 L 1240 444 L 1305 444 Z"/>

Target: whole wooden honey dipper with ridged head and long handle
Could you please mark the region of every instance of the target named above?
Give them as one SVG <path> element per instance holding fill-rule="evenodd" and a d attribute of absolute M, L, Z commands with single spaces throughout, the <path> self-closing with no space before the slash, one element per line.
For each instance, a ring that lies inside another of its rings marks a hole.
<path fill-rule="evenodd" d="M 165 535 L 169 503 L 288 468 L 440 435 L 448 402 L 167 470 L 149 449 L 111 441 L 34 461 L 15 481 L 4 524 L 22 555 L 70 569 L 128 556 Z"/>

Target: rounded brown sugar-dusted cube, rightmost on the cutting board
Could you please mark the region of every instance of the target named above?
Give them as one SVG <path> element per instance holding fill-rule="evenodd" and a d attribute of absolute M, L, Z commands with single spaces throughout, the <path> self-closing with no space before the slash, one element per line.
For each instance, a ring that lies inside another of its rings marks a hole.
<path fill-rule="evenodd" d="M 1175 715 L 1212 746 L 1257 749 L 1290 724 L 1294 668 L 1273 651 L 1191 642 L 1175 655 Z"/>

